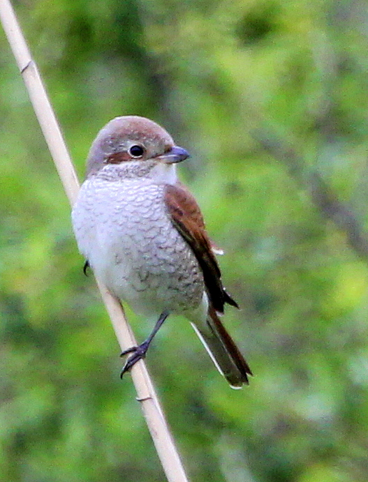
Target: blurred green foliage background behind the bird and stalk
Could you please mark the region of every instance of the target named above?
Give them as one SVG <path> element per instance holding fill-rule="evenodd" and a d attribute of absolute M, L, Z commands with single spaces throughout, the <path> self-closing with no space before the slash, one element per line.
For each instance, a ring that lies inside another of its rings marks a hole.
<path fill-rule="evenodd" d="M 159 333 L 147 364 L 191 481 L 366 482 L 367 2 L 14 3 L 80 179 L 117 115 L 191 152 L 255 375 L 233 391 L 184 319 Z M 163 481 L 3 32 L 0 166 L 1 482 Z"/>

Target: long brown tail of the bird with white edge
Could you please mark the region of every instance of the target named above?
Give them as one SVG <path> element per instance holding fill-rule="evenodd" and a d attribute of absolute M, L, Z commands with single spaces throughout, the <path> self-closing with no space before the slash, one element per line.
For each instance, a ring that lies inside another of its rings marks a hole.
<path fill-rule="evenodd" d="M 240 353 L 233 338 L 228 334 L 213 308 L 209 308 L 205 325 L 192 323 L 198 337 L 205 345 L 216 368 L 234 389 L 249 384 L 248 375 L 253 375 L 248 363 Z"/>

